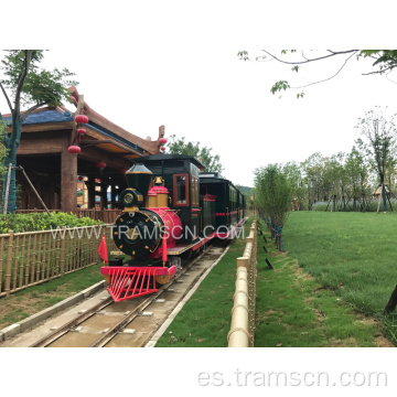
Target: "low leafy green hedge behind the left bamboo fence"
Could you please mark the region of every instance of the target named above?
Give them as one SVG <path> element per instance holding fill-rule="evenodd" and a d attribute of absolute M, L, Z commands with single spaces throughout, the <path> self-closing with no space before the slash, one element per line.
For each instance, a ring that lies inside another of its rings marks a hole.
<path fill-rule="evenodd" d="M 0 221 L 0 233 L 14 233 L 35 232 L 35 230 L 50 230 L 57 227 L 79 227 L 97 225 L 98 221 L 93 221 L 89 217 L 77 217 L 67 213 L 31 213 L 31 214 L 8 214 L 6 221 Z"/>

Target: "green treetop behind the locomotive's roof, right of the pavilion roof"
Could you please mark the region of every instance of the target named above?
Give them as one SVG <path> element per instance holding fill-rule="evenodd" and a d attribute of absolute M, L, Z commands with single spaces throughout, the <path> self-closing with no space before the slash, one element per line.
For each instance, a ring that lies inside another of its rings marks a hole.
<path fill-rule="evenodd" d="M 224 170 L 219 155 L 213 155 L 211 153 L 212 148 L 201 148 L 200 142 L 186 142 L 185 137 L 176 138 L 176 136 L 172 135 L 168 148 L 170 154 L 193 155 L 205 165 L 205 171 L 218 172 L 221 174 Z"/>

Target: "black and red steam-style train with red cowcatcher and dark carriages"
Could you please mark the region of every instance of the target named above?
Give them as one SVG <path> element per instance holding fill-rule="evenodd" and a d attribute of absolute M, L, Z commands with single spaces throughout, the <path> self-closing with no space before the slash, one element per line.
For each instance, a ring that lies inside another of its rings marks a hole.
<path fill-rule="evenodd" d="M 181 270 L 181 256 L 200 253 L 213 238 L 232 239 L 245 222 L 245 196 L 216 172 L 184 154 L 141 157 L 126 172 L 124 212 L 112 228 L 130 257 L 101 267 L 112 299 L 157 292 Z"/>

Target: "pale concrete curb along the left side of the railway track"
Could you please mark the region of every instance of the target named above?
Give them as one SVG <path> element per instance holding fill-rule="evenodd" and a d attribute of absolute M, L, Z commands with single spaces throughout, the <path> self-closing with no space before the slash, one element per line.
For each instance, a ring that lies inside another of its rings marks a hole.
<path fill-rule="evenodd" d="M 17 334 L 26 331 L 28 329 L 34 326 L 35 324 L 40 323 L 49 319 L 50 316 L 60 313 L 61 311 L 71 308 L 72 305 L 83 301 L 84 299 L 93 296 L 95 292 L 106 288 L 107 282 L 105 280 L 97 282 L 96 285 L 85 289 L 76 293 L 73 297 L 66 298 L 62 302 L 54 304 L 51 308 L 44 309 L 39 313 L 35 313 L 28 319 L 21 320 L 15 324 L 11 324 L 2 330 L 0 330 L 0 342 L 6 341 L 11 336 L 15 336 Z"/>

